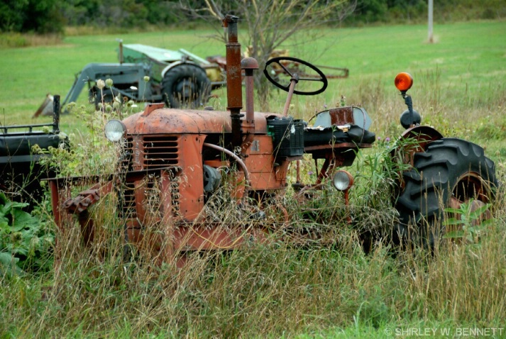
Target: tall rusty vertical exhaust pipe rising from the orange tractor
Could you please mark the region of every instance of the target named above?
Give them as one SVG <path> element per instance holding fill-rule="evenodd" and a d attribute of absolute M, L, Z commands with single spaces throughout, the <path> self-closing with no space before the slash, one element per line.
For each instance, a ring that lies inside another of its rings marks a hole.
<path fill-rule="evenodd" d="M 232 123 L 232 146 L 241 147 L 241 109 L 243 90 L 241 78 L 241 44 L 237 39 L 238 16 L 227 15 L 223 26 L 227 28 L 229 41 L 226 43 L 226 101 Z"/>

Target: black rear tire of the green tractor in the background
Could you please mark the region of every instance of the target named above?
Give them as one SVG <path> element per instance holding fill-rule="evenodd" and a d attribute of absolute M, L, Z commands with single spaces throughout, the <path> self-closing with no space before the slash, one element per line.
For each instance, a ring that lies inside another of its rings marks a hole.
<path fill-rule="evenodd" d="M 165 104 L 172 109 L 195 109 L 207 102 L 211 81 L 206 71 L 197 65 L 183 64 L 165 73 L 162 82 Z"/>

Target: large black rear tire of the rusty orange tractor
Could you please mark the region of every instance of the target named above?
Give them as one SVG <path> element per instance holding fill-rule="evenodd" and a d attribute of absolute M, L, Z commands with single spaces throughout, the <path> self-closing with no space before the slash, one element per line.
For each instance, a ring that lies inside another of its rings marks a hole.
<path fill-rule="evenodd" d="M 413 168 L 403 173 L 403 179 L 405 186 L 395 204 L 400 223 L 394 240 L 432 249 L 446 232 L 446 208 L 458 209 L 471 199 L 473 207 L 488 204 L 497 187 L 494 162 L 485 157 L 483 148 L 456 138 L 433 141 L 425 152 L 415 153 Z M 482 219 L 488 217 L 490 211 L 483 213 Z"/>

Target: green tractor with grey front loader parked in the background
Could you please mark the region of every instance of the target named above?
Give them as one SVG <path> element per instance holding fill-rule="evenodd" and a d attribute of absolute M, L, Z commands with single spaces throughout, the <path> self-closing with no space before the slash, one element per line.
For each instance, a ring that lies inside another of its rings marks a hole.
<path fill-rule="evenodd" d="M 119 40 L 119 63 L 90 63 L 76 74 L 65 105 L 77 101 L 88 87 L 90 103 L 112 101 L 121 95 L 133 101 L 165 102 L 173 109 L 198 108 L 207 102 L 212 89 L 226 84 L 222 65 L 210 62 L 187 50 L 165 50 L 141 44 L 123 45 Z M 99 89 L 98 79 L 112 79 L 114 86 Z M 53 113 L 53 96 L 48 94 L 34 117 Z"/>

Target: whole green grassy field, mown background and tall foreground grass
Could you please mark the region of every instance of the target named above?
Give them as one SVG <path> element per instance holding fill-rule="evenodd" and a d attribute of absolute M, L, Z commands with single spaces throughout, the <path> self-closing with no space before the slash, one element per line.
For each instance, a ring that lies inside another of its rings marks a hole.
<path fill-rule="evenodd" d="M 367 109 L 376 135 L 393 140 L 402 132 L 398 119 L 405 110 L 393 79 L 410 72 L 409 93 L 422 123 L 483 145 L 505 182 L 506 22 L 452 23 L 434 31 L 430 45 L 425 26 L 378 26 L 326 29 L 321 40 L 285 46 L 293 57 L 350 70 L 348 79 L 331 80 L 321 96 L 295 97 L 294 113 L 309 118 L 344 95 L 348 104 Z M 83 35 L 62 45 L 2 49 L 0 121 L 35 123 L 31 116 L 45 94 L 65 96 L 74 74 L 89 62 L 116 62 L 116 38 L 201 57 L 224 55 L 224 45 L 207 38 L 211 34 Z M 285 93 L 273 93 L 270 109 L 280 112 Z M 86 101 L 85 93 L 79 101 Z M 85 126 L 80 117 L 62 116 L 67 134 Z M 90 152 L 104 157 L 94 141 Z M 375 143 L 351 169 L 351 208 L 364 227 L 393 218 L 381 173 L 367 175 L 385 151 Z M 86 159 L 77 161 L 87 166 Z M 446 244 L 434 255 L 417 248 L 392 255 L 387 243 L 365 255 L 357 231 L 336 220 L 324 225 L 338 239 L 333 248 L 269 243 L 208 253 L 182 271 L 150 260 L 124 265 L 121 221 L 111 215 L 114 201 L 106 201 L 94 211 L 103 240 L 97 252 L 90 255 L 79 245 L 76 230 L 57 233 L 64 258 L 57 272 L 0 277 L 0 338 L 505 338 L 503 187 L 497 196 L 493 223 L 479 242 Z M 314 208 L 327 211 L 329 199 L 342 198 L 323 196 Z M 338 207 L 333 216 L 339 217 Z M 39 217 L 52 226 L 44 209 Z"/>

